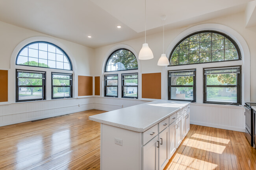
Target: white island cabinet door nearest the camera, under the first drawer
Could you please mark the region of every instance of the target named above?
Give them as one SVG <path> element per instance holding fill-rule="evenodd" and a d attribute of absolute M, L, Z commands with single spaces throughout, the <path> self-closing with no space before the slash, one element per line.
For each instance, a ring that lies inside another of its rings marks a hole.
<path fill-rule="evenodd" d="M 142 169 L 158 170 L 158 135 L 142 147 Z"/>

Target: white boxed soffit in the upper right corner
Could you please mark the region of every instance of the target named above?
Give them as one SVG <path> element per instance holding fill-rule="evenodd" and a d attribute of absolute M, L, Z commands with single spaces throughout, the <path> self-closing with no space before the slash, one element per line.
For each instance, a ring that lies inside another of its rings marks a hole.
<path fill-rule="evenodd" d="M 245 11 L 246 27 L 256 26 L 256 0 L 249 2 Z"/>

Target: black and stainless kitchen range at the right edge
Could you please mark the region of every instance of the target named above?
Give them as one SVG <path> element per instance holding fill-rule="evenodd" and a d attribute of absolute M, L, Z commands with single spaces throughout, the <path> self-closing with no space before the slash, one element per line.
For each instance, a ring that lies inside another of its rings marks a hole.
<path fill-rule="evenodd" d="M 245 136 L 249 141 L 250 145 L 255 148 L 254 133 L 255 133 L 255 115 L 251 106 L 256 106 L 255 102 L 246 102 L 245 108 Z"/>

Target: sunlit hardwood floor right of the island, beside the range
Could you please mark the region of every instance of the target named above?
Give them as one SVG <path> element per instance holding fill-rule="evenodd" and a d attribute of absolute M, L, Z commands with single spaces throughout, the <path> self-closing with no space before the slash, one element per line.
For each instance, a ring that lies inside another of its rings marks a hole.
<path fill-rule="evenodd" d="M 165 170 L 256 170 L 256 150 L 244 133 L 190 125 Z"/>

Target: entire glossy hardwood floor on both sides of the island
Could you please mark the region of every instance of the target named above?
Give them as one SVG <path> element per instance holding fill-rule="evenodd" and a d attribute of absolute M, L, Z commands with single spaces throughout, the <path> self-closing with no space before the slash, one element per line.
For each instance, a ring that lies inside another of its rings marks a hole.
<path fill-rule="evenodd" d="M 103 113 L 88 110 L 0 127 L 0 169 L 100 169 Z M 241 132 L 190 125 L 166 170 L 256 170 L 256 150 Z"/>

